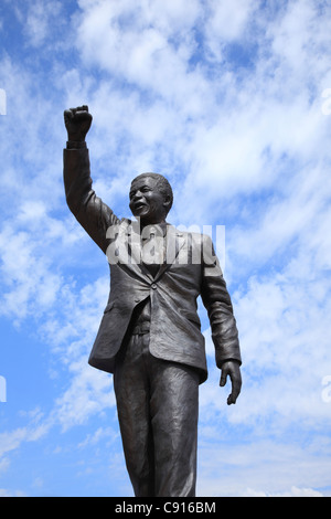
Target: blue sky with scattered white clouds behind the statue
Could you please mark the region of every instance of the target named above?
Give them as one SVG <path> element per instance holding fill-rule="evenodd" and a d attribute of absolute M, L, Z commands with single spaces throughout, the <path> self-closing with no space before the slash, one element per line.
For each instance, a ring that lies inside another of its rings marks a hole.
<path fill-rule="evenodd" d="M 132 496 L 87 364 L 108 265 L 62 184 L 81 104 L 119 216 L 157 171 L 171 223 L 225 226 L 243 392 L 226 405 L 200 303 L 197 495 L 330 496 L 330 2 L 2 0 L 0 38 L 0 496 Z"/>

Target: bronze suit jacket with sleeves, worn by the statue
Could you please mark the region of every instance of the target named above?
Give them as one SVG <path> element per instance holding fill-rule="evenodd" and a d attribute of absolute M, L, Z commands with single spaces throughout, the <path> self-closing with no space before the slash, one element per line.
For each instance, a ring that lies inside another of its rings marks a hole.
<path fill-rule="evenodd" d="M 167 262 L 153 277 L 140 261 L 140 242 L 136 240 L 132 222 L 119 220 L 95 194 L 86 148 L 64 150 L 64 184 L 70 210 L 107 254 L 110 266 L 109 299 L 89 364 L 114 372 L 115 357 L 134 309 L 150 297 L 151 354 L 196 368 L 203 382 L 207 378 L 207 368 L 204 337 L 196 313 L 199 296 L 207 309 L 217 367 L 231 359 L 241 363 L 231 298 L 217 260 L 210 260 L 210 251 L 213 251 L 211 239 L 168 225 Z M 209 251 L 207 261 L 204 251 Z"/>

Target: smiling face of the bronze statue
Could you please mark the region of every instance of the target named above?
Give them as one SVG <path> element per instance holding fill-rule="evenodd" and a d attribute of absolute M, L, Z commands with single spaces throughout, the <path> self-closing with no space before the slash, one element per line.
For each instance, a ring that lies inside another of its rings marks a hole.
<path fill-rule="evenodd" d="M 135 179 L 130 189 L 130 210 L 142 223 L 160 223 L 164 220 L 164 195 L 152 177 Z"/>

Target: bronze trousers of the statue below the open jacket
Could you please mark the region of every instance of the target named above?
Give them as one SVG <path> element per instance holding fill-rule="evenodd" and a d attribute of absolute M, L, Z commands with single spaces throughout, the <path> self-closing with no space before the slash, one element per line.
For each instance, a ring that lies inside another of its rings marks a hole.
<path fill-rule="evenodd" d="M 136 497 L 195 496 L 199 373 L 149 352 L 132 335 L 116 360 L 114 389 Z"/>

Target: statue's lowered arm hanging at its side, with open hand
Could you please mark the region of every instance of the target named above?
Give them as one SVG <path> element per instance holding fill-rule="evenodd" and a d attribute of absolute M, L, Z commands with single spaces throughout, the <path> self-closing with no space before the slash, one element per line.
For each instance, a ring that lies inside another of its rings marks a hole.
<path fill-rule="evenodd" d="M 209 236 L 204 236 L 203 251 L 202 301 L 211 322 L 216 364 L 222 370 L 220 385 L 225 385 L 227 377 L 231 378 L 232 393 L 227 403 L 234 404 L 242 389 L 242 356 L 236 319 L 226 283 Z"/>

